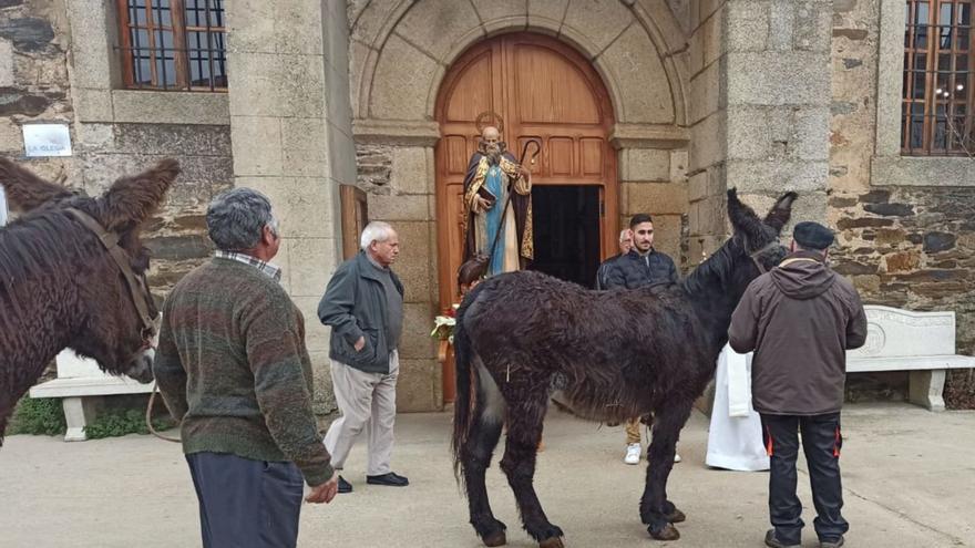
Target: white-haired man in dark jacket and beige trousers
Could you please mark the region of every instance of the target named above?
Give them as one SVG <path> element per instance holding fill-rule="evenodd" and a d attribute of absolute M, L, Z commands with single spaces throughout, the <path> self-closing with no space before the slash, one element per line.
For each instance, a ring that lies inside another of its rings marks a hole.
<path fill-rule="evenodd" d="M 403 327 L 403 285 L 390 270 L 400 252 L 399 236 L 386 223 L 370 223 L 361 251 L 336 270 L 318 304 L 321 323 L 331 325 L 329 358 L 336 402 L 342 416 L 325 435 L 332 466 L 341 469 L 365 428 L 369 438 L 366 483 L 403 487 L 409 480 L 390 469 L 396 423 L 396 384 Z M 339 493 L 352 485 L 339 476 Z"/>

